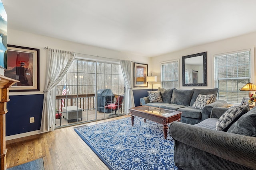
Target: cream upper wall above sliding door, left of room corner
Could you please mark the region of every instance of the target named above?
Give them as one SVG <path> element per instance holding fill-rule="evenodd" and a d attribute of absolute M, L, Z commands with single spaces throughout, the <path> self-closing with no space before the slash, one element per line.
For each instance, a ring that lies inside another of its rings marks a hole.
<path fill-rule="evenodd" d="M 124 53 L 99 47 L 94 47 L 90 45 L 83 45 L 79 43 L 73 43 L 70 41 L 63 41 L 56 38 L 46 37 L 42 35 L 36 35 L 32 33 L 22 32 L 14 29 L 8 29 L 8 44 L 18 45 L 23 47 L 30 47 L 40 49 L 40 92 L 12 92 L 10 95 L 22 95 L 22 94 L 42 94 L 45 86 L 45 76 L 46 76 L 46 60 L 47 60 L 47 50 L 44 47 L 49 47 L 52 49 L 60 49 L 65 51 L 74 51 L 80 54 L 81 57 L 86 57 L 86 59 L 92 60 L 107 60 L 100 57 L 107 57 L 112 59 L 124 59 L 131 60 L 136 63 L 149 64 L 148 72 L 151 72 L 150 58 L 143 57 L 139 55 L 134 55 L 131 53 Z M 100 57 L 92 57 L 88 55 L 98 55 Z M 112 60 L 117 61 L 117 60 Z M 133 65 L 132 65 L 133 68 Z"/>

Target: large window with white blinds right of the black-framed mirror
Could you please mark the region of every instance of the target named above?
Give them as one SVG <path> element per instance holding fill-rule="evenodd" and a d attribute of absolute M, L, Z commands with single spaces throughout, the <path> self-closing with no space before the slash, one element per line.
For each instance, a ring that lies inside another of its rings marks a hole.
<path fill-rule="evenodd" d="M 229 104 L 240 104 L 249 92 L 240 91 L 251 79 L 250 50 L 214 55 L 215 87 L 217 98 Z"/>

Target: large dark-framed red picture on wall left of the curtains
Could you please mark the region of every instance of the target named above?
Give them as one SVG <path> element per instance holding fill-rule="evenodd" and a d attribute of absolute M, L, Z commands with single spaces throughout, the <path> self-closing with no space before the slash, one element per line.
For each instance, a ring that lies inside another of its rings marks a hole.
<path fill-rule="evenodd" d="M 39 91 L 39 49 L 7 45 L 4 76 L 20 81 L 10 92 Z"/>

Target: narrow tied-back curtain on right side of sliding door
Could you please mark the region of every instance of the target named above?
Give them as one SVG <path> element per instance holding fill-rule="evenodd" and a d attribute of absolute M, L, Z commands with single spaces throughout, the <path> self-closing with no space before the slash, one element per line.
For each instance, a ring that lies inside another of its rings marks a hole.
<path fill-rule="evenodd" d="M 125 103 L 126 108 L 134 107 L 134 97 L 132 92 L 132 68 L 131 61 L 128 60 L 120 60 L 122 72 L 124 75 L 124 83 L 127 86 Z"/>

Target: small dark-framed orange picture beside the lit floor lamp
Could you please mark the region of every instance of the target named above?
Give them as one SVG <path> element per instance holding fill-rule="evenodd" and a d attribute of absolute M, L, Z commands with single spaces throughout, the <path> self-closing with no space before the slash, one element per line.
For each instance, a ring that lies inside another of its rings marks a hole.
<path fill-rule="evenodd" d="M 134 63 L 134 87 L 148 87 L 148 64 Z"/>

